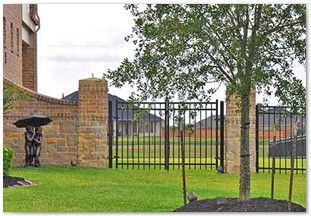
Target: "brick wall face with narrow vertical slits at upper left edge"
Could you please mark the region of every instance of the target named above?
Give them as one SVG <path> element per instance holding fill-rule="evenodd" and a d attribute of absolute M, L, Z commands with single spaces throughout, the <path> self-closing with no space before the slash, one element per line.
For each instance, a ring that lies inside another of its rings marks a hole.
<path fill-rule="evenodd" d="M 22 84 L 22 5 L 3 5 L 3 75 Z"/>

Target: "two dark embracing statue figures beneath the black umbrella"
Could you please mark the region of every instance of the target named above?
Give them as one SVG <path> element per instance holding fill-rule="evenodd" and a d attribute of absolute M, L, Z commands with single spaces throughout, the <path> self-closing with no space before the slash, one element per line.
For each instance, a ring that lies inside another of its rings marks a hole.
<path fill-rule="evenodd" d="M 35 160 L 35 166 L 40 166 L 39 156 L 42 144 L 42 128 L 27 126 L 25 132 L 25 167 L 32 166 Z"/>

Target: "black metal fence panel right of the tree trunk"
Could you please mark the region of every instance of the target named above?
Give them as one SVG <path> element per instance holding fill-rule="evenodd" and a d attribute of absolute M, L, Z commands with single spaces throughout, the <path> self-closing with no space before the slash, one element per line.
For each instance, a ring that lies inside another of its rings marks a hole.
<path fill-rule="evenodd" d="M 294 136 L 294 123 L 298 134 Z M 256 106 L 256 169 L 270 172 L 275 157 L 275 169 L 280 173 L 291 169 L 291 155 L 296 141 L 294 170 L 306 171 L 306 116 L 295 115 L 289 107 Z"/>

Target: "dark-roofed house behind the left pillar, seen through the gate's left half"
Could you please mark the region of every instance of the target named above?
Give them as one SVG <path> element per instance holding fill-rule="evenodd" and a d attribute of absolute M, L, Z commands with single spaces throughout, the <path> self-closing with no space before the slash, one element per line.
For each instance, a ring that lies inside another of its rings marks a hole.
<path fill-rule="evenodd" d="M 78 102 L 79 92 L 75 91 L 62 99 Z M 111 94 L 108 94 L 108 101 L 112 103 L 114 136 L 116 132 L 118 132 L 119 136 L 160 136 L 161 128 L 164 127 L 163 119 L 154 114 L 147 113 L 143 114 L 138 121 L 135 121 L 135 114 L 140 111 L 139 108 L 134 107 L 133 110 L 123 109 L 122 107 L 127 106 L 128 102 Z"/>

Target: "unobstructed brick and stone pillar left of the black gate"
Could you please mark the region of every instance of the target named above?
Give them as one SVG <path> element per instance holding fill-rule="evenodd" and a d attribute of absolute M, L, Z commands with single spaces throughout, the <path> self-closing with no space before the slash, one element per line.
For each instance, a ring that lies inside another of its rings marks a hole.
<path fill-rule="evenodd" d="M 79 81 L 78 155 L 80 166 L 105 167 L 107 159 L 108 83 Z"/>

